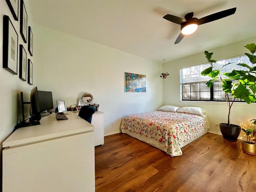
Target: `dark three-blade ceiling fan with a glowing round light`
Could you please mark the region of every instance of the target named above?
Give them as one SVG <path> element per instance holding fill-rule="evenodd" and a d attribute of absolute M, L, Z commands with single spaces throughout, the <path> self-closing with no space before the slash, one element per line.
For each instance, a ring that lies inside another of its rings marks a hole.
<path fill-rule="evenodd" d="M 208 15 L 200 19 L 193 17 L 194 16 L 193 12 L 186 14 L 185 19 L 182 19 L 174 15 L 170 15 L 170 14 L 165 15 L 163 18 L 168 21 L 181 25 L 180 26 L 181 33 L 174 43 L 174 44 L 178 44 L 184 38 L 185 35 L 194 33 L 198 28 L 198 25 L 230 16 L 235 12 L 236 12 L 236 7 Z"/>

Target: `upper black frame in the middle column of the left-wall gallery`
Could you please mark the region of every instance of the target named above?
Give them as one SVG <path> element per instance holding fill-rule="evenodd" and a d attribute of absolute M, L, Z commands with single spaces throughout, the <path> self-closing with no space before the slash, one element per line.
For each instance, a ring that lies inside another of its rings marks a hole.
<path fill-rule="evenodd" d="M 20 34 L 24 43 L 27 42 L 28 14 L 23 0 L 20 0 Z"/>

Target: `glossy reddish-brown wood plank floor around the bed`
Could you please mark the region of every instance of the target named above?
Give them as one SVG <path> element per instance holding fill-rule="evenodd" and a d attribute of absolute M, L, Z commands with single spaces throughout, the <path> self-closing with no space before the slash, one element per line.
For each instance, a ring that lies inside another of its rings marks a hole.
<path fill-rule="evenodd" d="M 256 156 L 207 133 L 171 157 L 127 134 L 95 148 L 96 192 L 255 192 Z"/>

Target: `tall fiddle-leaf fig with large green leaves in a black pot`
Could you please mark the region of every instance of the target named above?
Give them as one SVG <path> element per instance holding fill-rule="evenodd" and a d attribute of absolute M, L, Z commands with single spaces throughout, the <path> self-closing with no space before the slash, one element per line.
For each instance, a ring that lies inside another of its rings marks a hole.
<path fill-rule="evenodd" d="M 254 43 L 247 44 L 245 48 L 251 52 L 251 54 L 245 53 L 246 56 L 249 58 L 252 65 L 255 64 L 256 56 L 254 52 L 256 51 L 256 45 Z M 206 82 L 206 86 L 212 87 L 214 81 L 220 81 L 228 107 L 228 122 L 220 123 L 220 131 L 224 139 L 237 141 L 241 127 L 239 125 L 230 124 L 230 110 L 234 103 L 234 98 L 242 99 L 248 104 L 256 101 L 256 66 L 250 67 L 247 64 L 239 63 L 237 65 L 244 67 L 244 70 L 232 70 L 232 72 L 224 72 L 221 74 L 220 70 L 231 63 L 225 64 L 221 68 L 216 68 L 214 65 L 216 60 L 212 60 L 213 53 L 205 51 L 204 54 L 211 66 L 203 70 L 201 74 L 212 78 Z M 223 76 L 227 78 L 223 78 Z"/>

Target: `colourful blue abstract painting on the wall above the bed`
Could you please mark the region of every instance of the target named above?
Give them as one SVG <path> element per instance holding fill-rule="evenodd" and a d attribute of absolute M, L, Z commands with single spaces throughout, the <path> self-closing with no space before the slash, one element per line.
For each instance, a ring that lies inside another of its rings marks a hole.
<path fill-rule="evenodd" d="M 125 92 L 146 92 L 146 75 L 125 72 Z"/>

